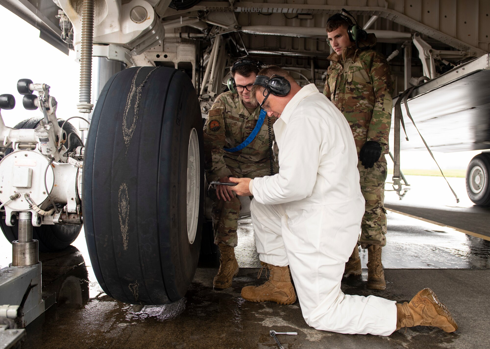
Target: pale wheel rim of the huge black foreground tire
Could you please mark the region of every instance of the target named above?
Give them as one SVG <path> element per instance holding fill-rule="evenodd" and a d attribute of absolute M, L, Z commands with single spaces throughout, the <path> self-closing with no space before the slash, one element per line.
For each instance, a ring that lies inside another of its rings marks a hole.
<path fill-rule="evenodd" d="M 191 130 L 189 137 L 189 153 L 187 157 L 187 237 L 194 243 L 197 232 L 199 214 L 199 142 L 196 129 Z"/>

